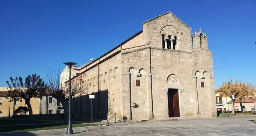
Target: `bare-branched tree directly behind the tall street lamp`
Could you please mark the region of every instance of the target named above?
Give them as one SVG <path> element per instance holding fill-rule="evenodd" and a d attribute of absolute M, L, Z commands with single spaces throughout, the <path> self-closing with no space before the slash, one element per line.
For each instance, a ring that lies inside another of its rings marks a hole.
<path fill-rule="evenodd" d="M 81 96 L 87 94 L 90 88 L 89 82 L 86 82 L 85 76 L 77 75 L 71 82 L 71 96 Z M 68 103 L 69 103 L 69 83 L 68 77 L 61 77 L 60 70 L 53 70 L 46 74 L 46 82 L 49 85 L 47 94 L 57 99 L 62 103 L 65 114 L 65 123 L 68 123 Z"/>

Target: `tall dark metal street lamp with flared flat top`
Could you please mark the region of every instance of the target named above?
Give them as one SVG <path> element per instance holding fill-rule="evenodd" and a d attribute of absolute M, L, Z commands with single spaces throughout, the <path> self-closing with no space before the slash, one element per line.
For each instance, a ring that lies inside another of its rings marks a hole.
<path fill-rule="evenodd" d="M 66 134 L 74 134 L 72 126 L 71 126 L 71 68 L 73 65 L 76 65 L 77 63 L 74 62 L 66 62 L 64 63 L 68 66 L 69 69 L 69 103 L 68 103 L 68 129 Z"/>

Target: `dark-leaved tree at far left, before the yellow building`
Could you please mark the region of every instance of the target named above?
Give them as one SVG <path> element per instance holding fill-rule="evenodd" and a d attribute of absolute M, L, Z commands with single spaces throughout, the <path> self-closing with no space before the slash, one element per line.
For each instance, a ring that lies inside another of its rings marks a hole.
<path fill-rule="evenodd" d="M 6 81 L 10 90 L 8 91 L 8 96 L 13 98 L 23 98 L 28 105 L 29 110 L 29 119 L 31 115 L 33 115 L 32 107 L 30 104 L 30 99 L 32 97 L 41 97 L 45 90 L 47 89 L 47 85 L 40 78 L 40 75 L 32 74 L 26 77 L 25 82 L 23 82 L 22 77 L 10 77 L 10 82 Z"/>

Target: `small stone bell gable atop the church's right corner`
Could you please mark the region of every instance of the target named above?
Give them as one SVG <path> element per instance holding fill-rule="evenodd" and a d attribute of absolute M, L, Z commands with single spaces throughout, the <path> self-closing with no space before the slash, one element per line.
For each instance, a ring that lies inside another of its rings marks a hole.
<path fill-rule="evenodd" d="M 202 29 L 199 29 L 199 32 L 192 33 L 193 39 L 193 48 L 203 48 L 208 49 L 208 40 L 206 33 L 203 33 Z"/>

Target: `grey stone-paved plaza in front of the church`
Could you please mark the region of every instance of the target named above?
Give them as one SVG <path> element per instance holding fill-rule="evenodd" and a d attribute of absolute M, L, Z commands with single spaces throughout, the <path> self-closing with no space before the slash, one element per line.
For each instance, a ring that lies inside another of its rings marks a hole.
<path fill-rule="evenodd" d="M 110 126 L 73 128 L 73 130 L 75 134 L 72 136 L 255 136 L 256 117 L 111 123 Z M 42 130 L 6 134 L 6 136 L 64 136 L 65 132 L 66 129 Z"/>

